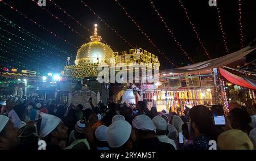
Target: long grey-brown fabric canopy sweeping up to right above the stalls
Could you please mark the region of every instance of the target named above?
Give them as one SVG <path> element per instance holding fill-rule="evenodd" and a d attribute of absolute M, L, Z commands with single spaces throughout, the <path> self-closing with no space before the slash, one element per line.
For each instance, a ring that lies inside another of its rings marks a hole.
<path fill-rule="evenodd" d="M 211 70 L 213 68 L 228 65 L 229 63 L 240 60 L 241 58 L 245 57 L 247 54 L 253 52 L 253 50 L 255 50 L 256 48 L 256 45 L 252 45 L 252 44 L 253 43 L 251 43 L 250 45 L 246 46 L 241 50 L 238 50 L 237 52 L 228 54 L 220 58 L 215 58 L 213 60 L 199 62 L 193 65 L 179 67 L 175 69 L 161 70 L 161 73 L 199 73 L 199 72 Z"/>

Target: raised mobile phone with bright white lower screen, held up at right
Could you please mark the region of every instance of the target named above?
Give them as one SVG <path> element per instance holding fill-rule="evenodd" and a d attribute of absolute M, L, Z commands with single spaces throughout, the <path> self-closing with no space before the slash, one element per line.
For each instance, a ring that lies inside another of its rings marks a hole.
<path fill-rule="evenodd" d="M 225 126 L 226 121 L 225 121 L 224 110 L 222 105 L 213 105 L 212 112 L 213 112 L 214 124 L 219 126 Z"/>

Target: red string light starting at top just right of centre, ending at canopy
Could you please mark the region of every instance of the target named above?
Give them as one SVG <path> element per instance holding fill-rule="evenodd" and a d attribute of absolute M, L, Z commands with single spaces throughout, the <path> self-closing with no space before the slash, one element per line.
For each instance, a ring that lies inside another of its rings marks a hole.
<path fill-rule="evenodd" d="M 185 56 L 187 56 L 187 59 L 189 61 L 191 61 L 192 63 L 195 63 L 195 62 L 193 62 L 192 58 L 188 56 L 187 52 L 183 49 L 183 47 L 180 44 L 180 42 L 176 39 L 176 37 L 174 36 L 174 32 L 172 32 L 172 30 L 167 26 L 167 23 L 164 21 L 163 16 L 161 16 L 160 13 L 158 12 L 158 10 L 156 10 L 156 7 L 155 7 L 154 3 L 151 0 L 149 0 L 149 1 L 151 3 L 152 7 L 154 8 L 156 14 L 159 16 L 160 20 L 163 22 L 164 27 L 167 28 L 167 30 L 170 33 L 172 39 L 174 39 L 174 41 L 177 44 L 177 46 L 179 46 L 180 50 L 185 54 Z"/>

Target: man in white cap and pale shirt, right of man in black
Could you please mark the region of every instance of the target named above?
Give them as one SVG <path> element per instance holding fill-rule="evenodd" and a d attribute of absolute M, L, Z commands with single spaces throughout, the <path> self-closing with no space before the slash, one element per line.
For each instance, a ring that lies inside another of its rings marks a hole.
<path fill-rule="evenodd" d="M 156 137 L 158 137 L 160 142 L 166 142 L 170 143 L 172 146 L 174 146 L 175 150 L 177 149 L 176 144 L 174 140 L 167 137 L 167 121 L 163 118 L 165 116 L 155 116 L 152 121 L 156 127 Z"/>

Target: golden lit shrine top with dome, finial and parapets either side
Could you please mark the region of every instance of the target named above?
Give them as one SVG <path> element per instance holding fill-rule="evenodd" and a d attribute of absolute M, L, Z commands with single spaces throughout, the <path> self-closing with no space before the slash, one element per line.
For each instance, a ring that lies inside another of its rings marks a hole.
<path fill-rule="evenodd" d="M 98 35 L 97 24 L 94 26 L 94 34 L 90 36 L 90 42 L 82 45 L 77 51 L 75 65 L 64 67 L 64 77 L 88 78 L 97 77 L 98 65 L 122 67 L 139 63 L 147 70 L 159 69 L 159 60 L 154 54 L 141 48 L 131 49 L 127 52 L 113 52 L 109 45 L 101 43 L 101 36 Z"/>

